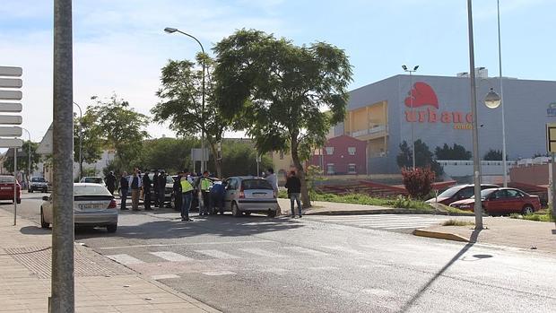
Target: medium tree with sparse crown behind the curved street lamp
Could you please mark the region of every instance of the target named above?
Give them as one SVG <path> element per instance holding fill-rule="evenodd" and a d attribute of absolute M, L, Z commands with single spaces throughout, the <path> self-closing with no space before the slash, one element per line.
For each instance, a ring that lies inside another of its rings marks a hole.
<path fill-rule="evenodd" d="M 204 110 L 203 64 L 206 68 Z M 162 86 L 157 91 L 162 102 L 155 105 L 151 113 L 156 122 L 162 123 L 169 119 L 169 128 L 178 135 L 204 132 L 213 155 L 216 155 L 216 146 L 222 141 L 222 135 L 229 125 L 222 118 L 213 95 L 213 68 L 213 60 L 202 53 L 197 55 L 196 63 L 170 60 L 162 68 Z M 213 162 L 218 176 L 222 177 L 221 161 L 213 158 Z"/>

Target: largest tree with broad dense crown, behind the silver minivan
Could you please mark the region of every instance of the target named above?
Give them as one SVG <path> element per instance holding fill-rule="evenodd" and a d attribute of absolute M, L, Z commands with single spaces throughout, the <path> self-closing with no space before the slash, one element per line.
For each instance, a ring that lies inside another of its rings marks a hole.
<path fill-rule="evenodd" d="M 298 47 L 259 30 L 238 30 L 214 51 L 222 114 L 254 138 L 257 152 L 291 151 L 303 206 L 310 206 L 302 161 L 343 121 L 352 81 L 348 57 L 324 42 Z"/>

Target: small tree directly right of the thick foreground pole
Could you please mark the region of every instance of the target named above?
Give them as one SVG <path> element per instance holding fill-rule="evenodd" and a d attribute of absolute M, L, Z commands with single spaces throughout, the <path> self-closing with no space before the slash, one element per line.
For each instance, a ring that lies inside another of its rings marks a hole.
<path fill-rule="evenodd" d="M 74 160 L 79 162 L 80 173 L 84 172 L 83 163 L 94 163 L 99 161 L 102 157 L 102 140 L 99 134 L 100 127 L 97 126 L 96 119 L 97 118 L 91 114 L 91 111 L 85 112 L 83 117 L 74 117 Z M 80 135 L 81 160 L 79 160 Z"/>

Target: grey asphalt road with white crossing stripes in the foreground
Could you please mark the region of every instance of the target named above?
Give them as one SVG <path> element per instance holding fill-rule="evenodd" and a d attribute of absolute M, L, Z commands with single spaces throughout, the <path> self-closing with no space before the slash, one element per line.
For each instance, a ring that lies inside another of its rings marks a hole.
<path fill-rule="evenodd" d="M 39 196 L 24 195 L 18 212 L 38 222 Z M 417 238 L 384 231 L 376 221 L 350 221 L 217 215 L 181 222 L 169 210 L 126 212 L 116 234 L 76 230 L 75 237 L 224 312 L 556 308 L 553 254 Z"/>

